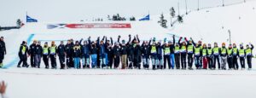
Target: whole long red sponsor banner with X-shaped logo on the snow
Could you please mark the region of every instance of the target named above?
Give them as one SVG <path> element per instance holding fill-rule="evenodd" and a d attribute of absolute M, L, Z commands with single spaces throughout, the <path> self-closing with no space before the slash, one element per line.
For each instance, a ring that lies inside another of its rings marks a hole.
<path fill-rule="evenodd" d="M 130 23 L 85 23 L 85 24 L 56 24 L 56 25 L 47 25 L 48 29 L 55 28 L 131 28 Z"/>

